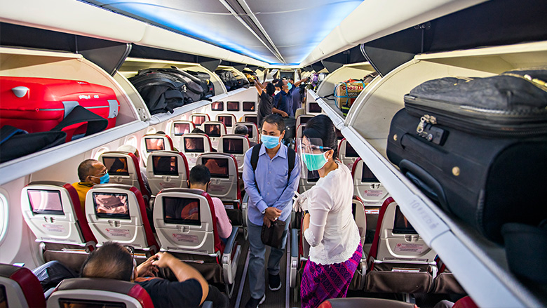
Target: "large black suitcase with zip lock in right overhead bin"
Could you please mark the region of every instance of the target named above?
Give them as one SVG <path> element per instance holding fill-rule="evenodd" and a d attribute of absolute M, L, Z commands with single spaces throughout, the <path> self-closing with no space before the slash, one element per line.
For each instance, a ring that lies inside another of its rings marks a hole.
<path fill-rule="evenodd" d="M 522 72 L 426 81 L 405 95 L 389 130 L 389 160 L 499 243 L 506 222 L 547 218 L 546 71 Z"/>

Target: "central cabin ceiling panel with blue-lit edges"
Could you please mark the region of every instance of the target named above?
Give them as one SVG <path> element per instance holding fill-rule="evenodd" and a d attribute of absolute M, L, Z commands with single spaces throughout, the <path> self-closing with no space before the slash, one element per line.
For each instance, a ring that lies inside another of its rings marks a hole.
<path fill-rule="evenodd" d="M 82 0 L 269 63 L 299 64 L 363 0 Z"/>

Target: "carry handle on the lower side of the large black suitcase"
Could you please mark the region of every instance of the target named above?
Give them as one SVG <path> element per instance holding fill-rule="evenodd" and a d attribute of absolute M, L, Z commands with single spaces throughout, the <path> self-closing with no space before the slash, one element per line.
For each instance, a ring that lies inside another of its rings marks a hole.
<path fill-rule="evenodd" d="M 443 210 L 450 212 L 443 187 L 426 170 L 407 159 L 400 161 L 399 168 L 429 199 L 440 203 Z"/>

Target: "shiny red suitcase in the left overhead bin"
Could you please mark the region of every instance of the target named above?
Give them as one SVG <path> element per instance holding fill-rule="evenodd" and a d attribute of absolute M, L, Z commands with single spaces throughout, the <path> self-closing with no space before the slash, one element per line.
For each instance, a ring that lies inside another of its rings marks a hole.
<path fill-rule="evenodd" d="M 48 131 L 80 105 L 116 126 L 120 103 L 107 86 L 86 81 L 0 76 L 0 126 L 11 125 L 29 133 Z M 67 141 L 86 133 L 86 123 L 63 128 Z"/>

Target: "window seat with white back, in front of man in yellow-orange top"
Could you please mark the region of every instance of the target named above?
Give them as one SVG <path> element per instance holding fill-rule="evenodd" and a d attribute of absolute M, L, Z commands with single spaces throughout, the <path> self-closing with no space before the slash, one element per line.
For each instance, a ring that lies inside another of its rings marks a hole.
<path fill-rule="evenodd" d="M 58 260 L 79 272 L 97 239 L 82 212 L 76 189 L 65 182 L 30 182 L 21 191 L 21 212 L 36 241 L 43 243 L 43 259 Z"/>

